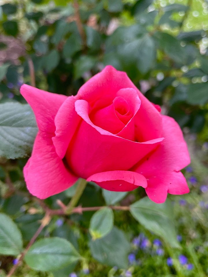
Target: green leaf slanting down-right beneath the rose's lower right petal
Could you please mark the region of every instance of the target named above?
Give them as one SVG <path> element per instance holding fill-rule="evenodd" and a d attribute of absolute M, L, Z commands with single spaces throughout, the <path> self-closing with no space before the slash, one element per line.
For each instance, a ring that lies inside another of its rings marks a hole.
<path fill-rule="evenodd" d="M 173 223 L 171 202 L 157 204 L 148 197 L 133 203 L 130 206 L 133 217 L 146 229 L 162 237 L 172 247 L 180 247 Z"/>

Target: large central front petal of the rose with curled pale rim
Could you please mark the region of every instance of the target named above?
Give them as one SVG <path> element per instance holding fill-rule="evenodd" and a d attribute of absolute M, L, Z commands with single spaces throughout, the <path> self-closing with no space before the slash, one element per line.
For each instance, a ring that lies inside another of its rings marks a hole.
<path fill-rule="evenodd" d="M 128 170 L 157 147 L 163 138 L 138 143 L 118 137 L 95 126 L 89 118 L 89 104 L 75 102 L 75 110 L 83 119 L 66 152 L 73 172 L 82 178 L 109 170 Z"/>

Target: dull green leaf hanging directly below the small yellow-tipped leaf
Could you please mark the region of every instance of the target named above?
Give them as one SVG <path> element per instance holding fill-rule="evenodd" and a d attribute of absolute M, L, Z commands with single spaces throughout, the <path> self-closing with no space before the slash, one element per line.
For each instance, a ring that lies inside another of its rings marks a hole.
<path fill-rule="evenodd" d="M 92 256 L 97 261 L 118 268 L 128 267 L 128 254 L 131 250 L 130 243 L 125 234 L 114 227 L 112 231 L 101 239 L 90 241 Z"/>

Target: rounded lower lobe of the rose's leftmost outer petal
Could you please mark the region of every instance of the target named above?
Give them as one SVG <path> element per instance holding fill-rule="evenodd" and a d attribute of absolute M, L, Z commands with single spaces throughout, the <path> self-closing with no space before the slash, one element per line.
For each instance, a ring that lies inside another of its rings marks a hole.
<path fill-rule="evenodd" d="M 52 141 L 39 133 L 23 172 L 29 192 L 40 199 L 66 190 L 77 180 L 57 156 Z"/>

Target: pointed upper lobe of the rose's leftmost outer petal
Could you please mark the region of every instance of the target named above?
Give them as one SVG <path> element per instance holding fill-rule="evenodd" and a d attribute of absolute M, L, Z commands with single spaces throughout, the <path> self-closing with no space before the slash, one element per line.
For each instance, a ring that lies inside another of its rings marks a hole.
<path fill-rule="evenodd" d="M 21 86 L 20 92 L 33 109 L 39 130 L 54 133 L 55 115 L 67 97 L 37 89 L 26 84 Z"/>

